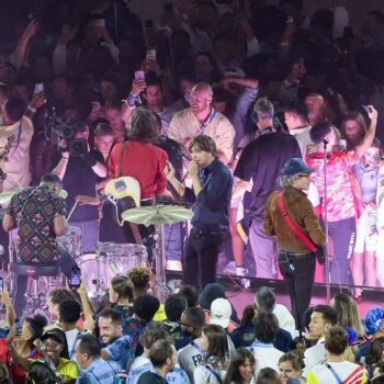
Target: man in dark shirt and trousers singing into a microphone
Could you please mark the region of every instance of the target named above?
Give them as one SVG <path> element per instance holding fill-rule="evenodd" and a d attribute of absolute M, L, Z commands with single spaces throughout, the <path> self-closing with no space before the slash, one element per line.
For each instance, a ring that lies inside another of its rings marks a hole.
<path fill-rule="evenodd" d="M 192 229 L 185 242 L 183 283 L 204 289 L 216 281 L 216 263 L 224 236 L 228 233 L 233 178 L 218 159 L 215 142 L 205 135 L 192 139 L 192 161 L 188 173 L 193 189 L 184 187 L 168 161 L 167 180 L 184 201 L 193 202 Z M 182 179 L 184 180 L 184 178 Z"/>

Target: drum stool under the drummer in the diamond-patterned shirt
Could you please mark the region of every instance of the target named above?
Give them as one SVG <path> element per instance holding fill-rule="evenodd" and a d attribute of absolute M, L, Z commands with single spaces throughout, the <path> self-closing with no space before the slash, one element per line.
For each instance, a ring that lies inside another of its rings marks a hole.
<path fill-rule="evenodd" d="M 27 279 L 25 298 L 26 308 L 24 313 L 34 314 L 36 310 L 44 310 L 46 307 L 46 294 L 53 287 L 57 287 L 56 279 L 61 276 L 61 268 L 56 266 L 33 266 L 11 262 L 9 264 L 10 276 L 12 278 L 12 291 L 15 292 L 15 278 Z M 44 279 L 44 281 L 43 281 Z M 44 292 L 38 292 L 38 284 L 44 284 Z M 60 284 L 61 286 L 61 284 Z M 12 292 L 11 291 L 11 292 Z"/>

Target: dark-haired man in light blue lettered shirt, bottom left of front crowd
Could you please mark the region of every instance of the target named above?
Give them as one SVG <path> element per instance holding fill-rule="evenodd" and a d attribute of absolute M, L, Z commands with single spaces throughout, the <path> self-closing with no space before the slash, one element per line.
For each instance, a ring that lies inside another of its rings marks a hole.
<path fill-rule="evenodd" d="M 93 335 L 83 335 L 76 342 L 76 361 L 82 374 L 76 384 L 113 384 L 121 371 L 117 363 L 101 359 L 101 346 Z"/>

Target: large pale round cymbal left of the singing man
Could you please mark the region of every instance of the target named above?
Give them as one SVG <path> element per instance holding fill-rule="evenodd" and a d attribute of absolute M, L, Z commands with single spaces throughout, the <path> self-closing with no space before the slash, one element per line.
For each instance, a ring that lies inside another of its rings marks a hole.
<path fill-rule="evenodd" d="M 182 223 L 192 216 L 191 210 L 174 205 L 142 206 L 122 213 L 123 221 L 144 225 Z"/>

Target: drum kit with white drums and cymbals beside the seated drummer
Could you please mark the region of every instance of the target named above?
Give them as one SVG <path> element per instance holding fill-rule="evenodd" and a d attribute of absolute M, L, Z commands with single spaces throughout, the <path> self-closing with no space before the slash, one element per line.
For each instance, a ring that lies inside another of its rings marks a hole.
<path fill-rule="evenodd" d="M 7 206 L 12 196 L 20 191 L 7 191 L 0 193 L 0 205 Z M 66 191 L 63 192 L 64 196 Z M 122 213 L 125 222 L 155 225 L 157 247 L 155 252 L 156 283 L 158 298 L 163 302 L 168 289 L 166 286 L 166 252 L 163 225 L 181 223 L 190 219 L 193 212 L 178 205 L 153 205 L 131 208 Z M 87 292 L 90 298 L 99 300 L 111 280 L 118 273 L 126 273 L 135 266 L 148 266 L 147 249 L 136 244 L 99 242 L 94 253 L 82 253 L 82 233 L 75 225 L 70 225 L 65 236 L 57 237 L 59 247 L 68 251 L 81 269 L 81 276 L 84 280 Z"/>

